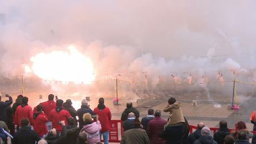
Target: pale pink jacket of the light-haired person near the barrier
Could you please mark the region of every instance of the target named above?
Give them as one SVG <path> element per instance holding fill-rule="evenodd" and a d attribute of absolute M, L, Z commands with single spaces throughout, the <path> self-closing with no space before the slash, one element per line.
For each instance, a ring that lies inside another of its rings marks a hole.
<path fill-rule="evenodd" d="M 92 124 L 83 126 L 80 132 L 84 131 L 87 133 L 88 144 L 95 144 L 101 141 L 100 130 L 101 130 L 101 122 L 96 121 L 96 122 L 93 122 Z"/>

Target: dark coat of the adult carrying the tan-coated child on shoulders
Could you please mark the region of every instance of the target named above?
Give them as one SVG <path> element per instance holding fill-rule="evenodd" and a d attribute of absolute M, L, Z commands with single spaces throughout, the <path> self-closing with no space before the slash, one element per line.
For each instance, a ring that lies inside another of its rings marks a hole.
<path fill-rule="evenodd" d="M 160 137 L 166 139 L 166 144 L 182 144 L 183 143 L 184 128 L 183 125 L 167 126 L 160 134 Z"/>

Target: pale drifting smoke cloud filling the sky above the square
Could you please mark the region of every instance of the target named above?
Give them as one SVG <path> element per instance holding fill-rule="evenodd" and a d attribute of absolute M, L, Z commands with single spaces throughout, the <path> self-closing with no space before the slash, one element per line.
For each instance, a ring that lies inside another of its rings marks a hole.
<path fill-rule="evenodd" d="M 93 79 L 171 86 L 232 81 L 236 74 L 241 81 L 256 81 L 255 1 L 47 0 L 1 1 L 0 6 L 3 77 L 44 79 L 33 69 L 32 57 L 68 53 L 73 45 L 92 62 Z M 86 67 L 77 62 L 67 67 L 72 69 L 68 74 L 77 75 Z M 60 70 L 57 64 L 43 68 Z"/>

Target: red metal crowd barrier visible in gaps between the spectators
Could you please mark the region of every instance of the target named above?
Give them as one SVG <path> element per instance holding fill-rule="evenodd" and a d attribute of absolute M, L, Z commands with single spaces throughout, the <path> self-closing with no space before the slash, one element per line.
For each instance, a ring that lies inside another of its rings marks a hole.
<path fill-rule="evenodd" d="M 121 120 L 111 120 L 109 122 L 109 142 L 121 142 L 121 138 L 123 135 L 123 126 Z M 190 125 L 189 133 L 193 133 L 193 130 L 196 130 L 197 126 Z M 210 128 L 213 131 L 213 134 L 217 132 L 218 128 Z M 230 131 L 234 129 L 229 129 Z M 256 134 L 256 132 L 252 131 L 252 133 Z M 101 140 L 103 142 L 103 140 Z"/>

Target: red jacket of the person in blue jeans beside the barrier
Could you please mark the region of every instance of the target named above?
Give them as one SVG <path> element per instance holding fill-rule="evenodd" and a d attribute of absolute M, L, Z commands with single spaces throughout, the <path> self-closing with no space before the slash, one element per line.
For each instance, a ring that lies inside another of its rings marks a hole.
<path fill-rule="evenodd" d="M 101 132 L 109 131 L 109 121 L 111 120 L 111 112 L 108 107 L 94 108 L 93 112 L 98 115 L 98 120 L 101 122 Z"/>

